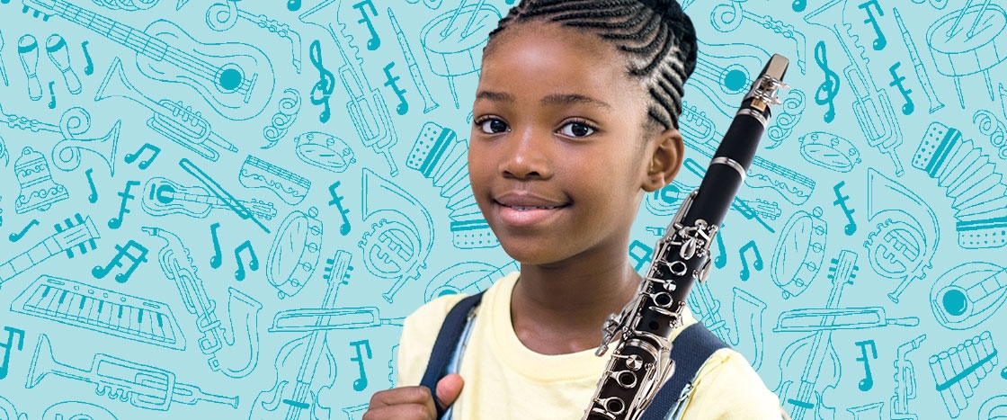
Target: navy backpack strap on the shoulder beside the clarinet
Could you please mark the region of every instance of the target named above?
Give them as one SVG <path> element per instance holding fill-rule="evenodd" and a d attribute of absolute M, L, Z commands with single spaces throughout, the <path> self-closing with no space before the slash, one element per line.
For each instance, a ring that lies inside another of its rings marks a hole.
<path fill-rule="evenodd" d="M 672 343 L 671 358 L 675 372 L 658 390 L 640 420 L 663 420 L 680 403 L 682 390 L 695 379 L 699 369 L 714 352 L 730 347 L 700 322 L 687 326 Z"/>

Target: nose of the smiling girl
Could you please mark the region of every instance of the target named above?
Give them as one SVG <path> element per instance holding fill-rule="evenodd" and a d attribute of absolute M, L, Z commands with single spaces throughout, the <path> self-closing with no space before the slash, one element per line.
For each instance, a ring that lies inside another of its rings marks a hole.
<path fill-rule="evenodd" d="M 499 172 L 505 177 L 549 178 L 553 175 L 551 137 L 528 128 L 506 141 Z"/>

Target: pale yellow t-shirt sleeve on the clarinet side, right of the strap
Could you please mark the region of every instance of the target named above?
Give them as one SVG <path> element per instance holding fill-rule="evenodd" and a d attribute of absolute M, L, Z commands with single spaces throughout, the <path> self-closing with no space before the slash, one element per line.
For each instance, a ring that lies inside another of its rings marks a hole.
<path fill-rule="evenodd" d="M 682 420 L 789 420 L 776 394 L 734 349 L 714 353 L 696 377 Z"/>

